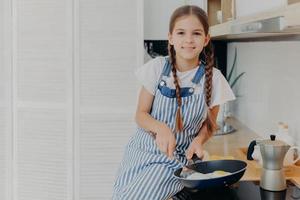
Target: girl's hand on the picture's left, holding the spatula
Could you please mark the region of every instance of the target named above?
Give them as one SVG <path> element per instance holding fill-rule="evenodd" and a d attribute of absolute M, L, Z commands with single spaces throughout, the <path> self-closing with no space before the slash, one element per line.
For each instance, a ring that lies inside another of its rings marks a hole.
<path fill-rule="evenodd" d="M 176 139 L 172 130 L 165 123 L 160 123 L 156 131 L 156 144 L 162 153 L 173 159 L 176 147 Z"/>

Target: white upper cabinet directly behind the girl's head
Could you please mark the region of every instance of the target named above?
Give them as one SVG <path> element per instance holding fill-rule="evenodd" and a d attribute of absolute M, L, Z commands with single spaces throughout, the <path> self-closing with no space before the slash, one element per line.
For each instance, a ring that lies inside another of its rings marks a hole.
<path fill-rule="evenodd" d="M 207 0 L 144 0 L 144 39 L 166 40 L 171 14 L 184 4 L 194 4 L 207 10 Z"/>

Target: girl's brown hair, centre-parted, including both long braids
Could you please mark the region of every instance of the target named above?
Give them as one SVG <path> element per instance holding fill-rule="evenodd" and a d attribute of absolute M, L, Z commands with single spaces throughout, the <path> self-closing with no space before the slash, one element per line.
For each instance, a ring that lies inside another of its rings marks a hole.
<path fill-rule="evenodd" d="M 169 24 L 169 33 L 171 34 L 173 32 L 176 20 L 180 17 L 183 16 L 188 16 L 188 15 L 194 15 L 196 16 L 201 24 L 203 25 L 205 35 L 208 34 L 209 31 L 209 24 L 208 24 L 208 19 L 207 15 L 204 10 L 197 6 L 193 5 L 185 5 L 177 8 L 170 19 L 170 24 Z M 176 113 L 176 128 L 177 130 L 181 131 L 183 128 L 182 124 L 182 119 L 181 119 L 181 111 L 180 107 L 182 105 L 181 102 L 181 97 L 180 97 L 180 86 L 178 82 L 178 78 L 176 75 L 176 52 L 174 49 L 174 46 L 171 44 L 168 44 L 168 50 L 169 50 L 169 57 L 170 57 L 170 62 L 172 64 L 172 73 L 174 77 L 174 84 L 176 87 L 176 98 L 177 98 L 177 104 L 178 104 L 178 109 Z M 211 41 L 203 48 L 202 52 L 199 55 L 199 60 L 205 60 L 206 65 L 205 65 L 205 101 L 208 106 L 210 106 L 211 103 L 211 92 L 212 92 L 212 71 L 213 71 L 213 66 L 214 66 L 214 50 Z M 211 120 L 210 112 L 208 112 L 208 116 L 206 118 L 207 122 L 207 128 L 209 132 L 212 132 L 214 129 L 214 122 Z"/>

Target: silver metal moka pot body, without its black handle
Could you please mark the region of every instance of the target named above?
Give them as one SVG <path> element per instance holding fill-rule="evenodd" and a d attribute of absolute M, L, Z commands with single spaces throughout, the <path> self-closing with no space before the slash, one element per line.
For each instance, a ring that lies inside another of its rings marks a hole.
<path fill-rule="evenodd" d="M 283 159 L 290 146 L 275 140 L 275 137 L 270 135 L 270 139 L 258 143 L 263 161 L 260 187 L 269 191 L 282 191 L 286 189 Z"/>

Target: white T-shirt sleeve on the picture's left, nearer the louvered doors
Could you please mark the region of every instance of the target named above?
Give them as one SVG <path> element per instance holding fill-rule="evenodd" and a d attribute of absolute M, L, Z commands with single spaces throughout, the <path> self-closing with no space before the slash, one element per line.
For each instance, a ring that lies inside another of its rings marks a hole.
<path fill-rule="evenodd" d="M 138 81 L 153 95 L 155 94 L 164 62 L 164 57 L 156 57 L 137 68 L 134 72 Z"/>

